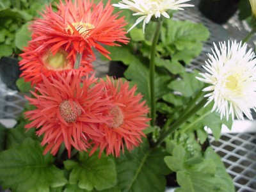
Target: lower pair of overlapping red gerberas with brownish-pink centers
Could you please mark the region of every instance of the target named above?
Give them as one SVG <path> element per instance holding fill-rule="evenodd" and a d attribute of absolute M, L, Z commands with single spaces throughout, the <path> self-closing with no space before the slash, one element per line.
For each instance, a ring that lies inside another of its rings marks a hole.
<path fill-rule="evenodd" d="M 106 148 L 107 154 L 120 156 L 124 145 L 128 150 L 141 143 L 142 132 L 148 127 L 148 108 L 142 96 L 135 95 L 136 86 L 109 78 L 97 81 L 94 76 L 81 78 L 79 70 L 57 74 L 36 86 L 35 98 L 26 97 L 35 110 L 25 113 L 36 127 L 38 136 L 44 134 L 44 154 L 55 155 L 65 143 L 70 156 L 71 146 L 86 151 Z M 82 80 L 81 80 L 82 79 Z"/>

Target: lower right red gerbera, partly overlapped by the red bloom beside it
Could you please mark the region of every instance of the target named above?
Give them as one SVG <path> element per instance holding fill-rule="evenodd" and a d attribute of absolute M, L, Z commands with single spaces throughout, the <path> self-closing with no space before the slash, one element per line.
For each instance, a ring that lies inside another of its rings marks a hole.
<path fill-rule="evenodd" d="M 95 141 L 91 154 L 99 147 L 100 152 L 106 148 L 106 154 L 115 154 L 120 156 L 120 150 L 124 152 L 124 144 L 127 150 L 131 151 L 134 147 L 140 145 L 141 136 L 145 137 L 143 130 L 148 127 L 147 118 L 148 107 L 145 106 L 145 100 L 140 102 L 142 95 L 135 95 L 136 86 L 129 90 L 129 83 L 122 82 L 122 79 L 114 81 L 107 77 L 105 84 L 106 92 L 111 97 L 113 106 L 107 111 L 111 116 L 105 124 L 99 124 L 100 132 L 104 136 L 100 142 Z"/>

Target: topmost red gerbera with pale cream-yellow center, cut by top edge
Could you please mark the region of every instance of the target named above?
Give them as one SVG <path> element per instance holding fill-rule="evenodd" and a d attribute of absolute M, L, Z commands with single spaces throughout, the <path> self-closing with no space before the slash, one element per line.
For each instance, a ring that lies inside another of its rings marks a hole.
<path fill-rule="evenodd" d="M 117 19 L 118 13 L 113 14 L 114 8 L 110 1 L 104 7 L 102 1 L 95 4 L 93 0 L 74 0 L 74 3 L 66 0 L 65 4 L 60 1 L 57 7 L 58 12 L 53 12 L 51 6 L 47 7 L 42 13 L 44 18 L 36 19 L 31 25 L 33 33 L 40 36 L 35 41 L 56 44 L 51 47 L 52 52 L 64 46 L 81 54 L 87 50 L 94 56 L 92 47 L 95 47 L 109 58 L 109 52 L 102 44 L 127 44 L 124 17 Z"/>

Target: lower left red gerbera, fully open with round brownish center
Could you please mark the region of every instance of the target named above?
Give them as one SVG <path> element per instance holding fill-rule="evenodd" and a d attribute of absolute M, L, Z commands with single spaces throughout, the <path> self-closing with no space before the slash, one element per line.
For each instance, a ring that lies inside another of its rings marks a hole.
<path fill-rule="evenodd" d="M 95 77 L 86 77 L 81 82 L 78 70 L 56 75 L 56 79 L 43 76 L 43 83 L 36 86 L 40 94 L 31 92 L 35 98 L 26 97 L 36 109 L 25 113 L 31 122 L 25 128 L 35 127 L 36 134 L 44 134 L 41 145 L 47 145 L 55 155 L 61 143 L 65 143 L 70 157 L 71 146 L 77 150 L 90 148 L 91 138 L 100 138 L 97 124 L 109 118 L 104 111 L 109 109 L 109 99 L 102 99 L 104 87 Z M 83 83 L 81 85 L 81 83 Z M 99 142 L 99 141 L 96 141 Z"/>

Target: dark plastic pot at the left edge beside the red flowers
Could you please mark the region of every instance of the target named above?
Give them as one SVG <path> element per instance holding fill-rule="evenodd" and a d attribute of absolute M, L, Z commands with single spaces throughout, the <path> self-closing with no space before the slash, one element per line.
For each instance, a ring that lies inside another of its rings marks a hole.
<path fill-rule="evenodd" d="M 19 60 L 11 57 L 0 59 L 0 78 L 12 90 L 18 90 L 16 81 L 20 76 Z"/>

